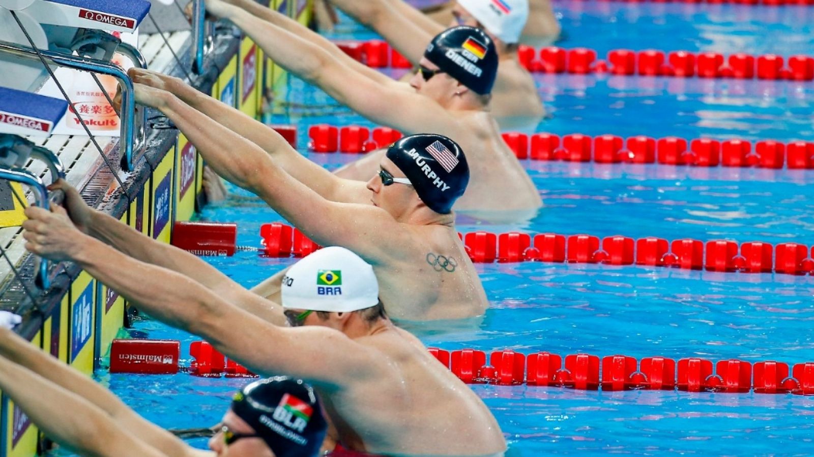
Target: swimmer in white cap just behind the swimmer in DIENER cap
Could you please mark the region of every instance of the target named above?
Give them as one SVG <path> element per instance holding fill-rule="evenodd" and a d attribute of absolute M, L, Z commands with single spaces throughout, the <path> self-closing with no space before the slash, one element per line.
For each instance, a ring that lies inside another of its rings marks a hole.
<path fill-rule="evenodd" d="M 518 58 L 520 32 L 529 15 L 528 0 L 458 0 L 452 2 L 454 16 L 444 25 L 405 0 L 330 3 L 379 33 L 415 67 L 420 65 L 426 43 L 445 27 L 468 25 L 483 29 L 495 43 L 500 61 L 489 106 L 501 128 L 533 128 L 545 115 L 534 79 Z"/>

